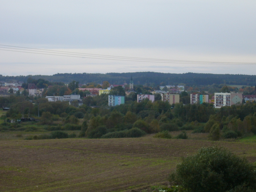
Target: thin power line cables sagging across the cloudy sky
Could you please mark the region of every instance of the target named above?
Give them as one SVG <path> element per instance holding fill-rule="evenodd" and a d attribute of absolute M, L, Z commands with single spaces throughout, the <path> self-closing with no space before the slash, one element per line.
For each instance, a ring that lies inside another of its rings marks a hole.
<path fill-rule="evenodd" d="M 37 49 L 29 47 L 19 47 L 11 45 L 1 45 L 0 50 L 12 51 L 12 52 L 24 52 L 64 57 L 77 57 L 86 59 L 101 59 L 101 60 L 121 60 L 121 61 L 136 61 L 136 62 L 151 62 L 151 63 L 176 63 L 176 64 L 204 64 L 204 65 L 255 65 L 256 63 L 247 62 L 215 62 L 215 61 L 193 61 L 193 60 L 166 60 L 166 59 L 152 59 L 152 58 L 140 58 L 140 57 L 124 57 L 114 55 L 100 55 L 90 53 L 79 53 L 79 52 L 67 52 L 49 49 Z M 20 51 L 18 51 L 20 50 Z"/>

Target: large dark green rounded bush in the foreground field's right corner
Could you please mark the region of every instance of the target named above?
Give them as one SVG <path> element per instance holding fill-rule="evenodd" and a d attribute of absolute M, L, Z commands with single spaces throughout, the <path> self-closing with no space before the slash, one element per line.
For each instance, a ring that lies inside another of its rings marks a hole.
<path fill-rule="evenodd" d="M 246 159 L 224 148 L 208 147 L 184 158 L 169 181 L 190 192 L 249 191 L 256 187 L 255 171 Z"/>

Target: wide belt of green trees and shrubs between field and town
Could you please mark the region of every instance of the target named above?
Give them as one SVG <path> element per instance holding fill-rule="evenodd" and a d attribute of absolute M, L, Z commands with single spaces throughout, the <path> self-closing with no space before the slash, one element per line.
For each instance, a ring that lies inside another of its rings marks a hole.
<path fill-rule="evenodd" d="M 163 131 L 193 130 L 194 133 L 209 133 L 210 140 L 256 133 L 256 103 L 215 109 L 208 103 L 170 105 L 161 100 L 151 102 L 148 99 L 137 103 L 126 97 L 125 104 L 110 108 L 107 106 L 107 94 L 88 98 L 90 100 L 84 100 L 84 104 L 79 107 L 76 101 L 69 105 L 68 102 L 48 102 L 44 98 L 37 98 L 31 103 L 28 96 L 24 95 L 1 98 L 1 102 L 9 102 L 11 106 L 2 119 L 32 116 L 40 121 L 32 122 L 36 127 L 29 129 L 23 126 L 26 125 L 24 123 L 4 122 L 0 131 L 80 130 L 80 137 L 120 138 Z M 98 107 L 92 108 L 91 104 Z"/>

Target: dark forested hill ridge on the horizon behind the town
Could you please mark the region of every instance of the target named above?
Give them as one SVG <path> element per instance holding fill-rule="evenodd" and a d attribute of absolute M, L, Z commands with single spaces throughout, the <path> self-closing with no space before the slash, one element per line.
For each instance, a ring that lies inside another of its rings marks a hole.
<path fill-rule="evenodd" d="M 108 81 L 110 84 L 129 84 L 131 77 L 134 84 L 170 84 L 178 85 L 180 83 L 188 86 L 192 85 L 211 85 L 211 84 L 229 84 L 229 85 L 251 85 L 256 84 L 256 75 L 231 75 L 231 74 L 204 74 L 204 73 L 156 73 L 156 72 L 134 72 L 134 73 L 58 73 L 52 76 L 46 75 L 28 75 L 28 76 L 2 76 L 0 81 L 23 81 L 26 82 L 28 77 L 33 79 L 45 79 L 50 82 L 69 83 L 73 80 L 80 84 L 84 83 L 101 83 Z"/>

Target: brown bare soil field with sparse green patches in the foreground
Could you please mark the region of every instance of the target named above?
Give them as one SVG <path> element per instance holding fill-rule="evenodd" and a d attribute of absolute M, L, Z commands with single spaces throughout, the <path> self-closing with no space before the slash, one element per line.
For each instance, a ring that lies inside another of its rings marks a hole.
<path fill-rule="evenodd" d="M 167 184 L 181 157 L 223 146 L 256 161 L 256 143 L 157 139 L 0 141 L 1 192 L 135 192 Z M 151 190 L 152 191 L 152 190 Z"/>

